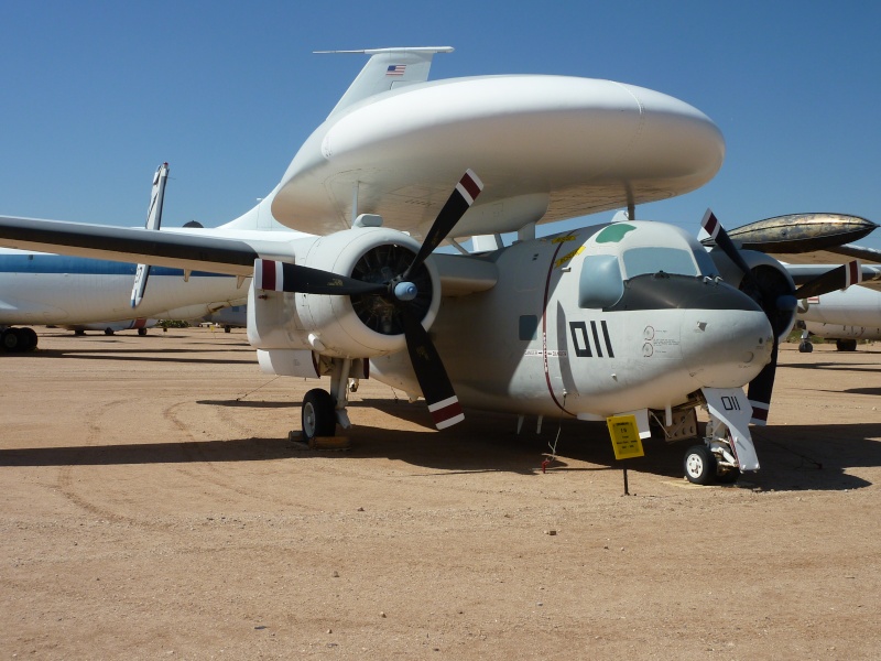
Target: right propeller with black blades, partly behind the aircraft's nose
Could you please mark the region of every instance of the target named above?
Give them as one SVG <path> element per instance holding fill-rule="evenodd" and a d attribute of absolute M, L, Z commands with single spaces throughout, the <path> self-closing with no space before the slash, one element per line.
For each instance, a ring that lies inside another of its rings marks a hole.
<path fill-rule="evenodd" d="M 752 422 L 758 425 L 768 424 L 768 412 L 771 408 L 771 393 L 774 389 L 774 377 L 777 368 L 777 351 L 780 335 L 782 335 L 792 319 L 792 315 L 801 299 L 818 296 L 839 289 L 847 289 L 862 280 L 862 271 L 858 260 L 827 271 L 823 275 L 809 280 L 797 290 L 776 269 L 749 268 L 740 250 L 731 241 L 728 232 L 710 209 L 704 214 L 700 225 L 713 237 L 716 245 L 743 273 L 740 289 L 755 301 L 771 322 L 773 346 L 771 360 L 762 371 L 750 381 L 747 397 L 752 404 Z"/>

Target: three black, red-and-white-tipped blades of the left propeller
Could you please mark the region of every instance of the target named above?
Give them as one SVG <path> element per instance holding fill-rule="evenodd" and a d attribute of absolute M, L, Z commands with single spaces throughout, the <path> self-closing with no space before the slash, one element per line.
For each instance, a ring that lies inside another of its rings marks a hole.
<path fill-rule="evenodd" d="M 258 259 L 254 261 L 254 286 L 306 294 L 341 296 L 372 294 L 385 301 L 383 303 L 385 306 L 391 303 L 401 322 L 413 371 L 428 403 L 435 426 L 443 430 L 454 425 L 461 422 L 465 416 L 440 356 L 428 333 L 423 328 L 422 319 L 414 314 L 411 306 L 411 301 L 418 295 L 418 288 L 410 281 L 410 278 L 416 274 L 425 259 L 453 231 L 482 189 L 483 183 L 480 178 L 470 170 L 466 171 L 425 235 L 425 241 L 413 261 L 403 273 L 396 273 L 385 282 L 365 282 L 319 269 Z"/>

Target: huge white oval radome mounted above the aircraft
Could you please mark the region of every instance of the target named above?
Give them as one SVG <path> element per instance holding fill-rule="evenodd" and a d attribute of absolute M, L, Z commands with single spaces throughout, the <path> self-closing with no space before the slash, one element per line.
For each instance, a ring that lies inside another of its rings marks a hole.
<path fill-rule="evenodd" d="M 725 142 L 692 106 L 565 76 L 414 84 L 334 112 L 297 152 L 272 214 L 312 234 L 358 212 L 423 236 L 465 167 L 485 192 L 453 236 L 516 231 L 681 195 L 721 166 Z"/>

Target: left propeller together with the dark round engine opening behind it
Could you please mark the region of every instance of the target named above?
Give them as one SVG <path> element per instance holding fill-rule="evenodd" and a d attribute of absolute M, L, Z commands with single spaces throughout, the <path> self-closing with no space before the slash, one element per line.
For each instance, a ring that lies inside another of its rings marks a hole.
<path fill-rule="evenodd" d="M 483 189 L 468 170 L 435 218 L 418 252 L 384 246 L 363 256 L 352 275 L 276 260 L 254 260 L 254 286 L 262 290 L 351 296 L 361 321 L 377 332 L 403 333 L 413 371 L 435 426 L 446 429 L 465 420 L 440 356 L 422 318 L 431 305 L 427 257 L 449 235 Z"/>

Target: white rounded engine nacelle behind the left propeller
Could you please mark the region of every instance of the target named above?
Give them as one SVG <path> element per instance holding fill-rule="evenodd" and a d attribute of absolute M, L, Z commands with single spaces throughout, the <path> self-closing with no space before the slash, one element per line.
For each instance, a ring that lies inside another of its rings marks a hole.
<path fill-rule="evenodd" d="M 356 227 L 292 241 L 290 261 L 312 269 L 387 282 L 415 259 L 420 243 L 381 227 Z M 275 259 L 279 259 L 275 257 Z M 440 305 L 440 279 L 427 259 L 409 281 L 418 294 L 410 305 L 431 327 Z M 255 290 L 248 297 L 248 339 L 258 349 L 311 349 L 338 358 L 372 358 L 405 348 L 394 304 L 379 294 L 319 295 Z"/>

